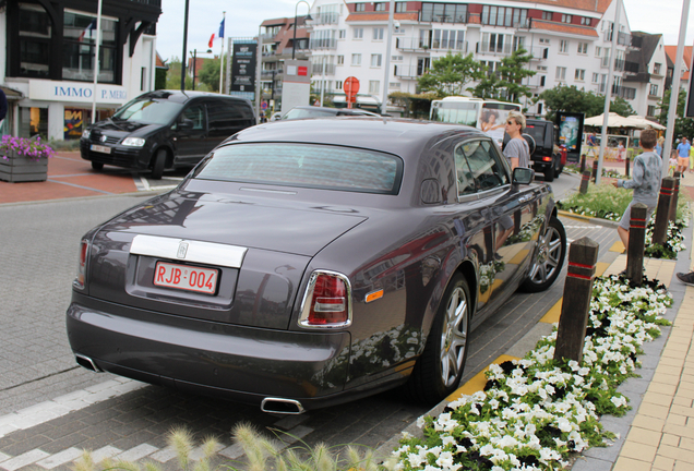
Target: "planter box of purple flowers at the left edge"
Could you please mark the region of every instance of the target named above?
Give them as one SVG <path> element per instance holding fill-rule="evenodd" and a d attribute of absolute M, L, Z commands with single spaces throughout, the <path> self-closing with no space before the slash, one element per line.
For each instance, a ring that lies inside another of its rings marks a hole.
<path fill-rule="evenodd" d="M 0 141 L 0 180 L 8 182 L 46 181 L 48 158 L 53 149 L 40 137 L 24 138 L 11 135 Z"/>

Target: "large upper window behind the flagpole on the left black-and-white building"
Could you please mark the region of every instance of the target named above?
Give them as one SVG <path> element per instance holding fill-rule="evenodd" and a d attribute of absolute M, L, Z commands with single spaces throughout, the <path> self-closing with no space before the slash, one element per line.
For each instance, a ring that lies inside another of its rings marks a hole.
<path fill-rule="evenodd" d="M 22 10 L 21 10 L 22 11 Z M 62 44 L 63 80 L 94 81 L 94 48 L 96 47 L 96 17 L 64 12 Z M 116 82 L 116 26 L 117 22 L 101 19 L 101 45 L 99 47 L 99 82 Z M 82 34 L 89 29 L 84 36 Z"/>

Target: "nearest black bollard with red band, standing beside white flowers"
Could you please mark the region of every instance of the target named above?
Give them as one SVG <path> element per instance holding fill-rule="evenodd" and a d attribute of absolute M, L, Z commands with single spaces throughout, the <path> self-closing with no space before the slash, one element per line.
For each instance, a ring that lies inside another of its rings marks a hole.
<path fill-rule="evenodd" d="M 583 360 L 583 343 L 586 338 L 593 278 L 600 245 L 582 238 L 569 246 L 569 268 L 564 282 L 562 314 L 559 318 L 554 360 Z"/>

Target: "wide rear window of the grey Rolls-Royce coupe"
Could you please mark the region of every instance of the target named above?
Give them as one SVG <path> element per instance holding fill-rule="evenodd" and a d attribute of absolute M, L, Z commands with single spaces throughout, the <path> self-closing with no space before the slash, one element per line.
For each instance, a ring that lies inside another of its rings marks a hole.
<path fill-rule="evenodd" d="M 235 144 L 214 152 L 195 178 L 397 194 L 403 161 L 360 148 L 288 143 Z"/>

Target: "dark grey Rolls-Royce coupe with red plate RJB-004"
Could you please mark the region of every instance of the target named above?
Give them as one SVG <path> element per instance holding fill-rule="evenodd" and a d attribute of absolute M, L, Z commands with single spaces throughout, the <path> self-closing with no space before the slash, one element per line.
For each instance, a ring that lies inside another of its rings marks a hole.
<path fill-rule="evenodd" d="M 565 255 L 551 189 L 484 133 L 288 120 L 227 140 L 88 231 L 67 312 L 79 364 L 300 413 L 457 387 L 472 327 Z"/>

